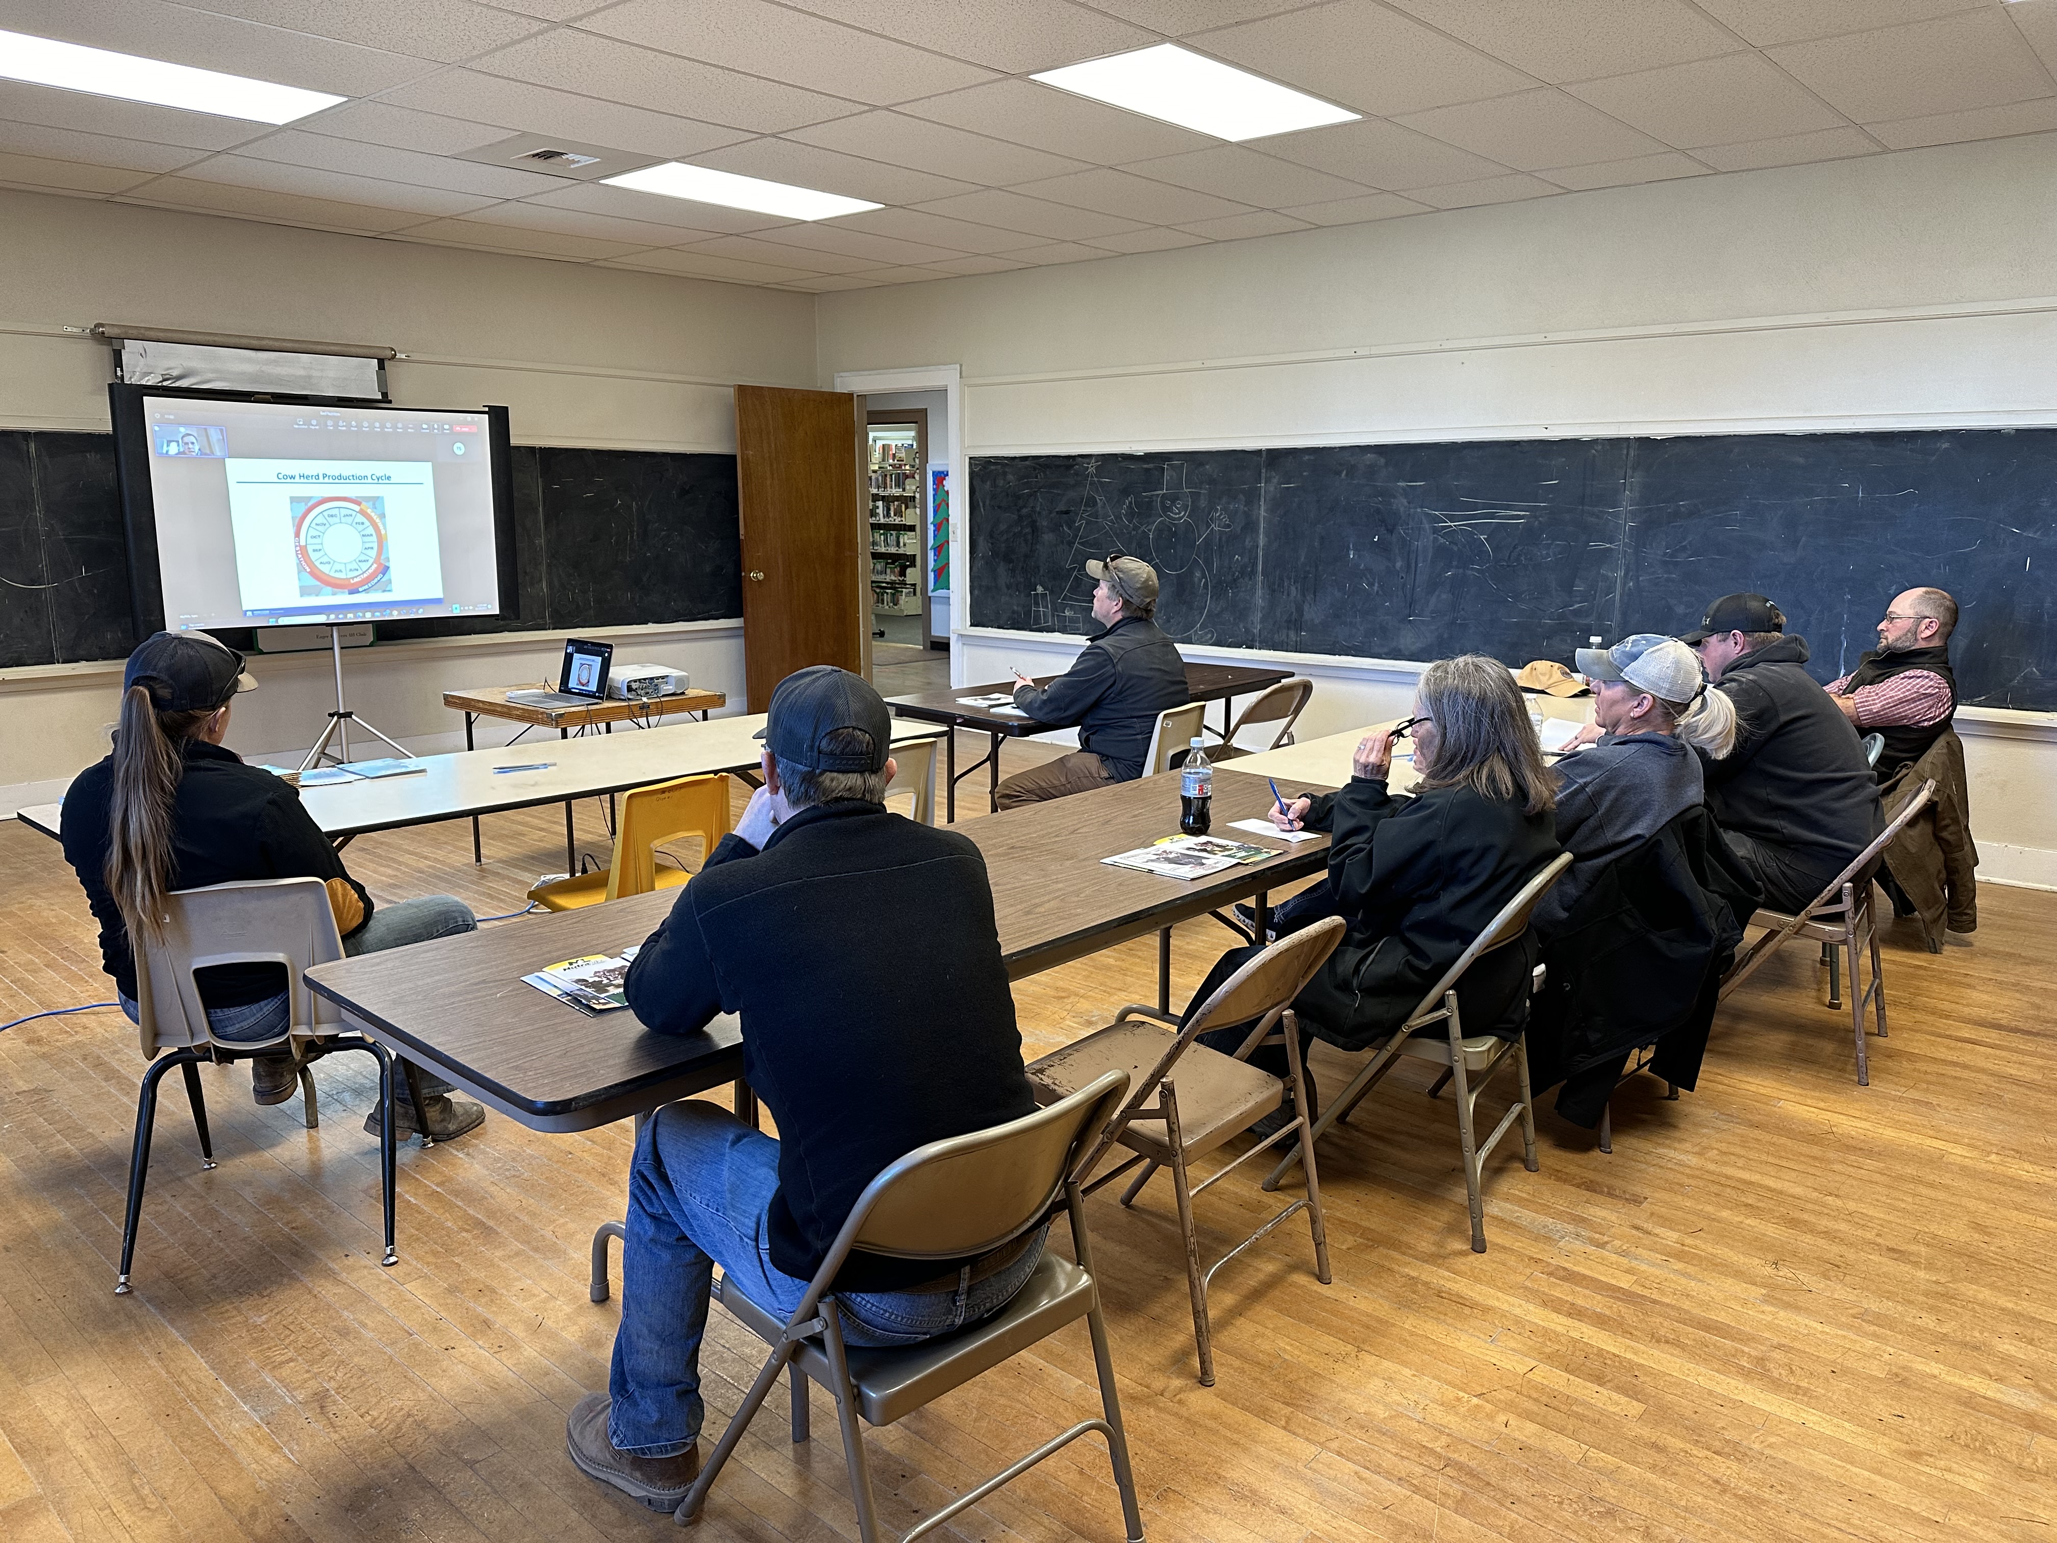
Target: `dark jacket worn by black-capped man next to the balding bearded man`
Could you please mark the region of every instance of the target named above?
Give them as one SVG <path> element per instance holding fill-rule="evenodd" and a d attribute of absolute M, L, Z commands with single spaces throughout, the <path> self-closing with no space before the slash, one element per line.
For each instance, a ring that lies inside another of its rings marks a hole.
<path fill-rule="evenodd" d="M 1804 638 L 1779 638 L 1732 660 L 1718 689 L 1736 704 L 1736 749 L 1701 761 L 1724 831 L 1777 848 L 1827 885 L 1886 821 L 1864 743 L 1806 658 Z"/>

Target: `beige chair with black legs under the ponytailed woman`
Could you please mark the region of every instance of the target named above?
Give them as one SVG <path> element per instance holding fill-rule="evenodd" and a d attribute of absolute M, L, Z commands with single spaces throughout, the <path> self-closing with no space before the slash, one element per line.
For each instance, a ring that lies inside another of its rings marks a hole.
<path fill-rule="evenodd" d="M 362 1049 L 378 1062 L 378 1175 L 385 1195 L 385 1259 L 395 1265 L 393 1251 L 393 1057 L 385 1045 L 360 1035 L 346 1035 L 344 1014 L 325 996 L 315 996 L 300 979 L 311 967 L 344 957 L 344 940 L 335 932 L 335 911 L 329 891 L 319 878 L 257 878 L 241 885 L 208 885 L 181 889 L 165 897 L 165 938 L 152 942 L 132 934 L 136 948 L 136 1018 L 142 1029 L 142 1053 L 150 1070 L 142 1074 L 142 1095 L 136 1103 L 136 1148 L 130 1156 L 128 1212 L 121 1222 L 121 1271 L 115 1296 L 130 1292 L 130 1261 L 136 1257 L 136 1226 L 142 1220 L 142 1189 L 150 1173 L 150 1132 L 156 1125 L 156 1084 L 173 1066 L 185 1074 L 185 1097 L 193 1105 L 193 1125 L 200 1132 L 200 1167 L 214 1167 L 214 1142 L 208 1136 L 208 1105 L 200 1092 L 200 1062 L 247 1062 L 255 1055 L 278 1055 L 290 1049 L 300 1062 L 300 1090 L 306 1099 L 306 1125 L 315 1127 L 315 1078 L 306 1062 L 331 1051 Z M 200 1002 L 193 971 L 210 965 L 282 965 L 286 971 L 286 1031 L 274 1039 L 216 1039 L 208 1029 L 208 1010 Z M 163 1051 L 171 1051 L 165 1055 Z M 409 1068 L 411 1070 L 411 1068 Z M 409 1078 L 416 1099 L 416 1127 L 428 1132 L 420 1111 L 420 1090 Z M 426 1138 L 424 1138 L 426 1140 Z"/>

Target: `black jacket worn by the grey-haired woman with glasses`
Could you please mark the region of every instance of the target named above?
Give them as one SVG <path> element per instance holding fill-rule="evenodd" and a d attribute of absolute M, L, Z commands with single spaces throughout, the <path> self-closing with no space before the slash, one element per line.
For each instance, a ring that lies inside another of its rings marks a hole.
<path fill-rule="evenodd" d="M 1549 813 L 1524 815 L 1516 802 L 1469 788 L 1395 798 L 1384 782 L 1351 778 L 1341 792 L 1314 798 L 1306 823 L 1331 833 L 1329 887 L 1349 932 L 1294 1006 L 1343 1049 L 1366 1049 L 1399 1029 L 1559 852 Z M 1535 959 L 1530 936 L 1465 973 L 1456 1000 L 1467 1035 L 1520 1027 Z"/>

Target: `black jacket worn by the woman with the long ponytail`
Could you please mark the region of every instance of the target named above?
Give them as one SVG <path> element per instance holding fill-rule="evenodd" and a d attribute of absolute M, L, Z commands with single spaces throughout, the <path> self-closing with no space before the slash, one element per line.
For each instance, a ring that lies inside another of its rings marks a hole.
<path fill-rule="evenodd" d="M 185 769 L 171 804 L 171 874 L 165 889 L 202 889 L 245 878 L 321 878 L 341 934 L 354 936 L 372 920 L 372 897 L 344 870 L 344 860 L 300 790 L 284 778 L 222 745 L 183 741 Z M 113 848 L 115 757 L 95 761 L 64 792 L 58 833 L 64 860 L 86 891 L 93 920 L 101 924 L 101 969 L 115 977 L 121 996 L 136 996 L 136 955 L 128 924 L 107 889 L 107 852 Z M 341 891 L 341 893 L 339 893 Z M 356 905 L 352 899 L 356 897 Z M 352 916 L 352 911 L 356 911 Z M 216 965 L 200 971 L 200 1000 L 210 1008 L 239 1008 L 286 990 L 278 965 Z"/>

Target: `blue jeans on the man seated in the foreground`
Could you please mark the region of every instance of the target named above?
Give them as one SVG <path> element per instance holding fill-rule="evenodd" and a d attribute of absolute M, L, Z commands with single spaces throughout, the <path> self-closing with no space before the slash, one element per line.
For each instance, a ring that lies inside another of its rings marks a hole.
<path fill-rule="evenodd" d="M 656 1111 L 636 1142 L 621 1245 L 621 1329 L 607 1378 L 607 1440 L 636 1457 L 677 1457 L 699 1438 L 699 1341 L 714 1265 L 757 1306 L 790 1317 L 808 1282 L 771 1263 L 765 1210 L 778 1142 L 710 1103 Z M 837 1292 L 852 1345 L 915 1345 L 998 1313 L 1043 1257 L 1043 1236 L 981 1282 L 936 1292 Z"/>

